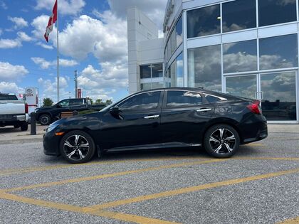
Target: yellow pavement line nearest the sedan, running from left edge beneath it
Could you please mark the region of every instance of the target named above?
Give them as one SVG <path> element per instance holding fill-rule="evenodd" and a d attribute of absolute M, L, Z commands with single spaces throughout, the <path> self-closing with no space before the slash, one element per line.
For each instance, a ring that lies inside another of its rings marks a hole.
<path fill-rule="evenodd" d="M 99 161 L 99 162 L 90 162 L 86 164 L 63 164 L 63 165 L 55 165 L 55 166 L 35 166 L 35 167 L 28 167 L 28 168 L 21 168 L 21 169 L 6 169 L 0 170 L 0 176 L 7 176 L 10 174 L 23 174 L 23 173 L 30 173 L 34 171 L 47 171 L 51 169 L 65 169 L 71 168 L 74 166 L 93 166 L 93 165 L 107 165 L 107 164 L 120 164 L 120 163 L 128 163 L 128 162 L 137 162 L 137 161 L 172 161 L 172 160 L 184 160 L 184 159 L 209 159 L 208 156 L 175 156 L 175 157 L 159 157 L 154 159 L 126 159 L 126 160 L 117 160 L 117 161 Z"/>

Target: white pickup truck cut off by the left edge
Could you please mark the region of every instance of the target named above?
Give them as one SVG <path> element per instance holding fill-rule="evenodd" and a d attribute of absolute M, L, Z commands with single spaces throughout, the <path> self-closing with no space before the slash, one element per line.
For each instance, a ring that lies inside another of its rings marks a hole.
<path fill-rule="evenodd" d="M 0 127 L 21 127 L 28 129 L 28 105 L 24 100 L 18 100 L 16 95 L 0 93 Z"/>

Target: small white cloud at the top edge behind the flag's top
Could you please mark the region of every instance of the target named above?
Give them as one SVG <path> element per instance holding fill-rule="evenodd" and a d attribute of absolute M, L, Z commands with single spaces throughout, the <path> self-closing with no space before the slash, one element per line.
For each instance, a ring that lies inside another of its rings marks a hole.
<path fill-rule="evenodd" d="M 35 9 L 47 9 L 52 11 L 55 1 L 53 0 L 37 0 Z M 58 9 L 59 13 L 63 15 L 76 15 L 82 11 L 85 6 L 83 0 L 59 0 Z M 51 15 L 50 15 L 51 16 Z"/>

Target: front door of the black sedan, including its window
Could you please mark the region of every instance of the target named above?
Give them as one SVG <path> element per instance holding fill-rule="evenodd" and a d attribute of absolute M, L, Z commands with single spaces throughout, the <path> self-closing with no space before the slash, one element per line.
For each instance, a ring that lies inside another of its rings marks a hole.
<path fill-rule="evenodd" d="M 100 133 L 104 148 L 159 144 L 163 92 L 137 93 L 115 106 L 120 111 L 118 114 L 107 112 Z"/>

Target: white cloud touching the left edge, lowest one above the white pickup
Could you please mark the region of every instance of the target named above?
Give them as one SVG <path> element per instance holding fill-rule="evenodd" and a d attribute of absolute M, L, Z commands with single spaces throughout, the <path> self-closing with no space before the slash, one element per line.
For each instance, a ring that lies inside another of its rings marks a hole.
<path fill-rule="evenodd" d="M 23 65 L 11 65 L 0 61 L 0 80 L 16 80 L 28 74 Z"/>

